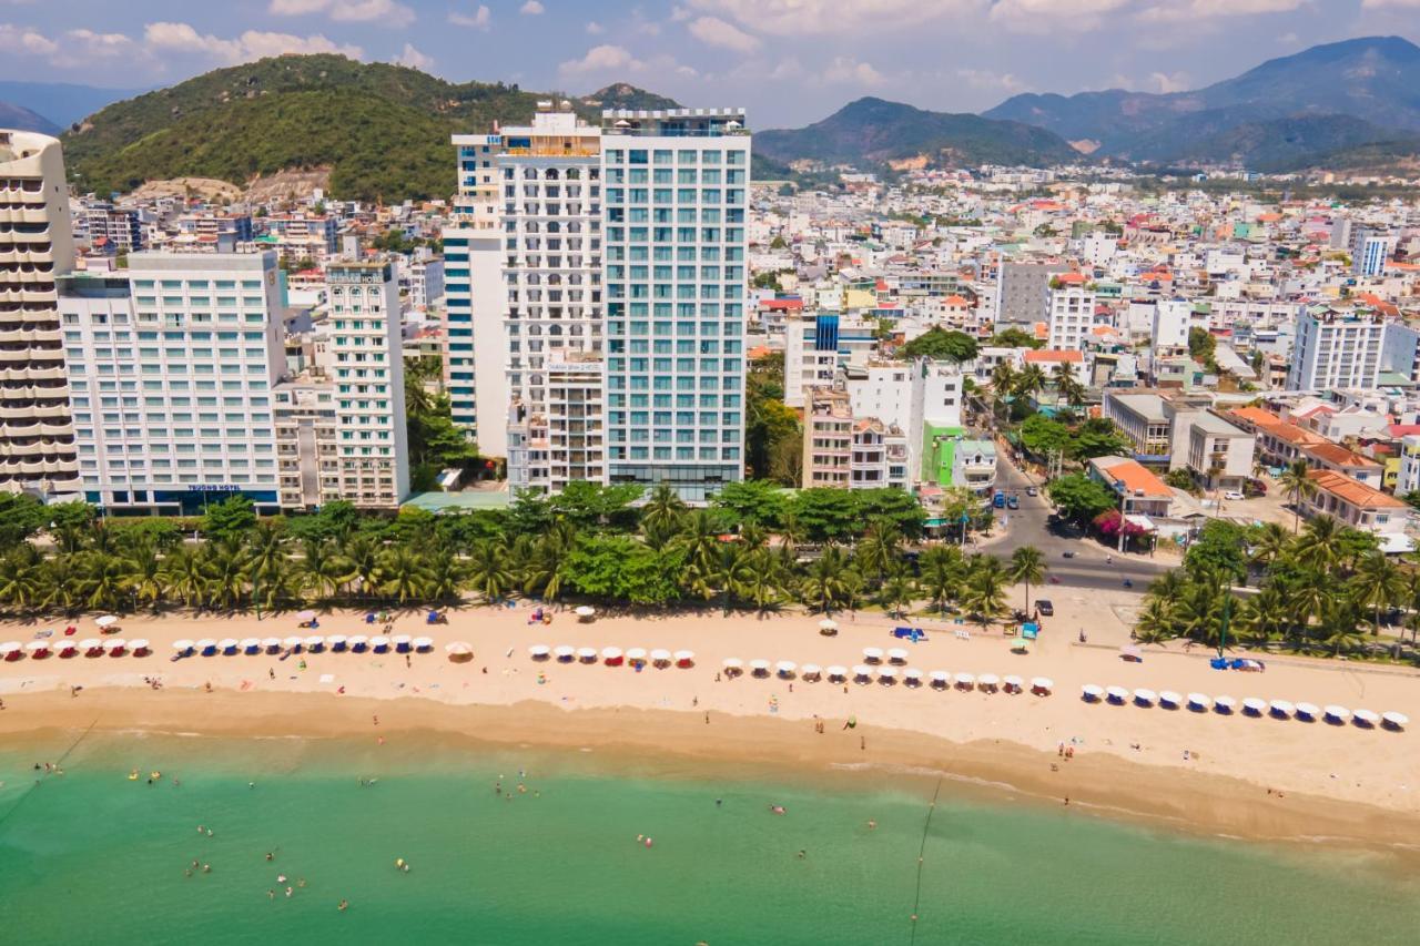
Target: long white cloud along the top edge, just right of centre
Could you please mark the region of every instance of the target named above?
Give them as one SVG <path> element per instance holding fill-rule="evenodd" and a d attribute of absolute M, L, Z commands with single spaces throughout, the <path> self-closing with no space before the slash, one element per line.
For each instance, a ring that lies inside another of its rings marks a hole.
<path fill-rule="evenodd" d="M 980 17 L 991 0 L 689 0 L 746 30 L 771 36 L 902 31 L 949 16 Z M 1003 0 L 1005 1 L 1005 0 Z"/>

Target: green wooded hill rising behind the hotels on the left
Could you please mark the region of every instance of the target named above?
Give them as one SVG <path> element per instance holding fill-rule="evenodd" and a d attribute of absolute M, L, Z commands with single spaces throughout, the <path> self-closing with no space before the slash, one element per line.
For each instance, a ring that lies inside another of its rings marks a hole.
<path fill-rule="evenodd" d="M 335 197 L 443 197 L 454 185 L 449 135 L 528 121 L 541 98 L 562 97 L 341 55 L 281 55 L 109 105 L 64 135 L 65 159 L 99 193 L 175 176 L 244 185 L 329 166 Z"/>

